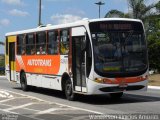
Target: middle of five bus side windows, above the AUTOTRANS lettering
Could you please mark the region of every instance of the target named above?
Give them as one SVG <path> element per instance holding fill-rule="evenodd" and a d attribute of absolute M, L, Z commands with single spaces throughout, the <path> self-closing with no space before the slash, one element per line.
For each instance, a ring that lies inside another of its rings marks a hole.
<path fill-rule="evenodd" d="M 37 33 L 36 37 L 36 52 L 37 54 L 46 54 L 46 32 Z"/>

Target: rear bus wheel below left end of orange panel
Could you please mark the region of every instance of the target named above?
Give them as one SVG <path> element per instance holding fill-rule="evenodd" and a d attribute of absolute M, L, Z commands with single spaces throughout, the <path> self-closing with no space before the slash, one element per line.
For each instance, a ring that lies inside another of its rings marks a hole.
<path fill-rule="evenodd" d="M 24 72 L 21 73 L 20 80 L 21 80 L 20 82 L 21 82 L 22 90 L 27 91 L 28 90 L 28 85 L 27 85 L 26 74 Z"/>

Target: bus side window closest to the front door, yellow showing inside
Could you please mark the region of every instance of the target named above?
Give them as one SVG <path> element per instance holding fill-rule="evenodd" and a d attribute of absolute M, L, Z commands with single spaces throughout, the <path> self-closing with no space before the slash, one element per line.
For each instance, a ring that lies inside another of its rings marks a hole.
<path fill-rule="evenodd" d="M 62 55 L 69 53 L 69 30 L 62 30 L 60 36 L 60 52 Z"/>

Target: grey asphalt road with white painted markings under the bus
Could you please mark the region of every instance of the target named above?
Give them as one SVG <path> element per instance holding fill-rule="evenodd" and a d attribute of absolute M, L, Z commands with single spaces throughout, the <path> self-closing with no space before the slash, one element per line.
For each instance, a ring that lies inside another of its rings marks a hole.
<path fill-rule="evenodd" d="M 111 120 L 123 118 L 159 120 L 160 90 L 148 89 L 147 92 L 129 92 L 125 93 L 120 100 L 114 101 L 107 95 L 79 95 L 76 101 L 68 101 L 62 92 L 55 90 L 31 88 L 30 91 L 23 92 L 20 85 L 9 83 L 1 77 L 0 113 L 2 120 L 6 120 L 5 118 L 15 118 L 15 120 L 21 120 L 22 118 L 23 120 L 105 118 Z M 99 114 L 103 116 L 95 116 Z"/>

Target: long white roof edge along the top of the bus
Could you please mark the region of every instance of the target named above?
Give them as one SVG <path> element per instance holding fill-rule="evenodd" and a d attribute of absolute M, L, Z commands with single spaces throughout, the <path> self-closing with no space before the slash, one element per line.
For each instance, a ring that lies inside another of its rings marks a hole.
<path fill-rule="evenodd" d="M 73 22 L 73 23 L 66 23 L 66 24 L 59 24 L 59 25 L 49 25 L 49 26 L 44 26 L 44 27 L 42 26 L 42 27 L 37 27 L 37 28 L 33 28 L 33 29 L 9 32 L 9 33 L 6 33 L 5 36 L 12 36 L 12 35 L 18 35 L 18 34 L 40 32 L 40 31 L 52 30 L 52 29 L 76 27 L 76 26 L 87 25 L 90 22 L 98 22 L 98 21 L 135 21 L 135 22 L 141 22 L 142 23 L 142 21 L 139 20 L 139 19 L 130 19 L 130 18 L 83 19 L 83 20 L 79 20 L 79 21 L 76 21 L 76 22 Z"/>

